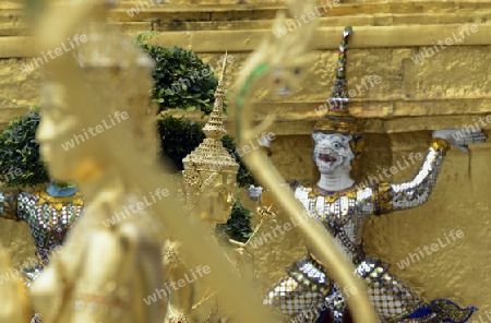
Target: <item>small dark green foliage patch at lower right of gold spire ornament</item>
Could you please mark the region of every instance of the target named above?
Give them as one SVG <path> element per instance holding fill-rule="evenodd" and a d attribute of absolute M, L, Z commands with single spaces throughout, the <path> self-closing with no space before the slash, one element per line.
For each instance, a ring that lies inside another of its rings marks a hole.
<path fill-rule="evenodd" d="M 230 239 L 246 242 L 252 234 L 251 217 L 253 213 L 242 206 L 240 200 L 236 200 L 231 216 L 226 224 L 217 225 L 217 237 L 220 238 L 223 234 Z M 221 234 L 223 232 L 223 234 Z M 221 238 L 223 239 L 223 238 Z"/>

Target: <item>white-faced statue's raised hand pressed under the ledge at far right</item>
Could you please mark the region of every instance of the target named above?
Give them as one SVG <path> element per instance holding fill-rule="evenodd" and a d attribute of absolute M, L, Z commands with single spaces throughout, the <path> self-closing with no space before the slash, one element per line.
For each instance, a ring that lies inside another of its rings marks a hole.
<path fill-rule="evenodd" d="M 486 133 L 481 129 L 441 129 L 433 131 L 433 137 L 440 137 L 452 146 L 468 153 L 468 145 L 486 142 Z"/>

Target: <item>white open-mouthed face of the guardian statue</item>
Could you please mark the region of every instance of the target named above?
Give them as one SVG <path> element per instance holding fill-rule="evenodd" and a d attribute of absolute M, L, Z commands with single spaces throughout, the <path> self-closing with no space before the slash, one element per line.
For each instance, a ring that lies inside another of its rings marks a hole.
<path fill-rule="evenodd" d="M 321 174 L 332 174 L 336 169 L 351 169 L 355 154 L 349 141 L 351 135 L 313 133 L 315 141 L 313 160 Z"/>

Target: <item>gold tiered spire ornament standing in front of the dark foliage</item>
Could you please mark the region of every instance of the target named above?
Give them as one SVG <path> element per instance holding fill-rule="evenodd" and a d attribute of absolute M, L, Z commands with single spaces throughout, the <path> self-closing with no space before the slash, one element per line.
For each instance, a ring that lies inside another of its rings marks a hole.
<path fill-rule="evenodd" d="M 214 225 L 226 223 L 230 216 L 239 170 L 239 164 L 221 144 L 227 133 L 223 121 L 226 63 L 225 58 L 213 111 L 203 128 L 206 139 L 182 159 L 187 207 L 197 207 L 201 217 L 213 223 L 212 230 Z"/>

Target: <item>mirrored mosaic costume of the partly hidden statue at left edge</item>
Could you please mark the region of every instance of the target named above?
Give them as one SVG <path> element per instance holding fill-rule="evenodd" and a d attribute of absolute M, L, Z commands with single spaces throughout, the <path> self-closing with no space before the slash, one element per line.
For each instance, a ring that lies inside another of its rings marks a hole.
<path fill-rule="evenodd" d="M 46 191 L 0 191 L 0 216 L 24 220 L 36 246 L 38 263 L 24 267 L 27 287 L 48 265 L 49 256 L 63 243 L 64 237 L 83 210 L 82 194 L 74 189 L 69 196 L 51 196 Z"/>

